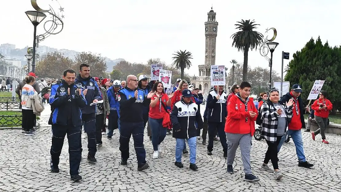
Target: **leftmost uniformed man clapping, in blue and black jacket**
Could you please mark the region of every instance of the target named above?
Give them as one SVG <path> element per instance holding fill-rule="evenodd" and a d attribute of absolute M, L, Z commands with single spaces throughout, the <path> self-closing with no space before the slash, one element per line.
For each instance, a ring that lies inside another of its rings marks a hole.
<path fill-rule="evenodd" d="M 49 124 L 52 125 L 51 172 L 59 172 L 59 156 L 64 144 L 64 137 L 68 135 L 69 161 L 71 180 L 82 179 L 79 176 L 79 164 L 82 154 L 80 108 L 85 107 L 87 102 L 84 92 L 74 85 L 76 72 L 72 69 L 64 71 L 61 84 L 51 87 L 49 103 L 53 112 Z"/>

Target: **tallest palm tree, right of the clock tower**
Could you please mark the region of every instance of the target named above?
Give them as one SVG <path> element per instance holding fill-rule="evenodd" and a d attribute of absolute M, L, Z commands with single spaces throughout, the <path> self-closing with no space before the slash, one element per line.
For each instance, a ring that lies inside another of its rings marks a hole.
<path fill-rule="evenodd" d="M 243 81 L 247 80 L 249 49 L 257 49 L 257 46 L 263 42 L 263 35 L 254 31 L 254 29 L 257 28 L 257 25 L 258 24 L 255 24 L 254 20 L 242 19 L 235 24 L 236 29 L 239 29 L 239 31 L 231 35 L 233 39 L 232 46 L 235 46 L 238 51 L 244 51 Z"/>

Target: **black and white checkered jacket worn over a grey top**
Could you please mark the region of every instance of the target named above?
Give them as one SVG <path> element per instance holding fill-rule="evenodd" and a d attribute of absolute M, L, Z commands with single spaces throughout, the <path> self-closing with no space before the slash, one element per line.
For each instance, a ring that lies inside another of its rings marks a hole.
<path fill-rule="evenodd" d="M 287 107 L 281 101 L 278 101 L 279 104 L 284 107 L 286 112 L 286 124 L 285 124 L 285 132 L 288 130 L 288 120 L 291 120 L 293 116 L 292 106 Z M 278 125 L 278 116 L 276 112 L 276 108 L 270 100 L 267 100 L 261 106 L 261 114 L 262 114 L 262 134 L 267 141 L 276 142 L 277 140 L 277 125 Z"/>

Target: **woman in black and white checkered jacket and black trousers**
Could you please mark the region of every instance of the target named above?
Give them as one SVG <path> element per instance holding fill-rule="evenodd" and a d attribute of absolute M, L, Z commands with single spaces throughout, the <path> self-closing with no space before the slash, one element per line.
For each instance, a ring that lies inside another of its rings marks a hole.
<path fill-rule="evenodd" d="M 282 136 L 286 135 L 286 131 L 288 130 L 287 122 L 291 120 L 293 115 L 292 105 L 294 100 L 290 99 L 289 102 L 285 104 L 279 101 L 278 89 L 270 90 L 269 95 L 270 97 L 261 106 L 263 119 L 261 124 L 261 135 L 268 144 L 268 150 L 265 153 L 261 169 L 268 172 L 275 171 L 275 178 L 280 179 L 283 177 L 283 174 L 278 168 L 277 146 L 281 141 Z M 270 160 L 274 170 L 268 167 Z"/>

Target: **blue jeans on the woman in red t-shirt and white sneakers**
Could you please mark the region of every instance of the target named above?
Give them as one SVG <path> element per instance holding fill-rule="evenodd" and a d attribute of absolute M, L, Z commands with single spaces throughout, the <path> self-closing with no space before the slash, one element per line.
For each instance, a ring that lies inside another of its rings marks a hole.
<path fill-rule="evenodd" d="M 149 117 L 150 128 L 152 132 L 152 140 L 151 143 L 153 144 L 154 151 L 158 150 L 158 145 L 163 141 L 166 137 L 167 128 L 162 127 L 163 119 L 153 119 Z"/>

